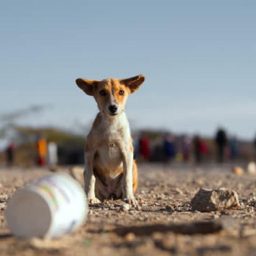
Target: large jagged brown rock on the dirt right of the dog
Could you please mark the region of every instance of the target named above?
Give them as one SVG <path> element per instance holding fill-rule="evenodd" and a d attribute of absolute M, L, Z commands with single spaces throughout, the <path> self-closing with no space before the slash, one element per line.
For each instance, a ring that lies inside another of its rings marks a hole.
<path fill-rule="evenodd" d="M 238 195 L 227 188 L 201 188 L 190 202 L 193 211 L 212 212 L 240 207 Z"/>

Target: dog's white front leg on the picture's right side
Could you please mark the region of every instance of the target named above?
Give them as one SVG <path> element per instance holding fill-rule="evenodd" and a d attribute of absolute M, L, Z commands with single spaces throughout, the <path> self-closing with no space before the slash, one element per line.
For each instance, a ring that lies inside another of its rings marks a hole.
<path fill-rule="evenodd" d="M 123 189 L 123 201 L 132 205 L 137 205 L 137 202 L 133 195 L 132 190 L 132 167 L 133 167 L 133 153 L 130 147 L 123 148 L 123 168 L 124 168 L 124 176 L 122 180 L 122 189 Z"/>

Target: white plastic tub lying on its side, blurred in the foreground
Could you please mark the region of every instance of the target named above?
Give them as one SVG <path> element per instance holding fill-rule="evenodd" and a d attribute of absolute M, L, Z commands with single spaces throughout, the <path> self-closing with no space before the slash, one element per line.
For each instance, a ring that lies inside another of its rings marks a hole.
<path fill-rule="evenodd" d="M 13 235 L 52 238 L 75 230 L 88 213 L 79 183 L 67 174 L 50 174 L 19 189 L 5 217 Z"/>

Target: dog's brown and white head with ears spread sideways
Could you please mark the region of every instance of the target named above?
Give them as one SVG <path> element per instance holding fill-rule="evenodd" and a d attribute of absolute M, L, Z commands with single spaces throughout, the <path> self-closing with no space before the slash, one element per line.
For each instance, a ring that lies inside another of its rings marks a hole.
<path fill-rule="evenodd" d="M 76 79 L 76 84 L 96 100 L 101 113 L 119 115 L 125 108 L 130 93 L 137 91 L 145 81 L 142 75 L 126 79 L 107 78 L 103 80 Z"/>

